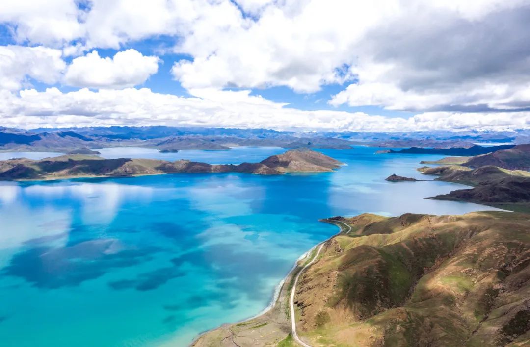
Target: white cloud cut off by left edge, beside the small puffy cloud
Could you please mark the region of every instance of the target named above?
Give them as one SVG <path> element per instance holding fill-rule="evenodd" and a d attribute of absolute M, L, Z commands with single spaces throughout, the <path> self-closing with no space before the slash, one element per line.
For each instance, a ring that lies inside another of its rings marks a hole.
<path fill-rule="evenodd" d="M 29 85 L 28 78 L 54 84 L 66 64 L 61 50 L 46 47 L 0 46 L 0 88 L 17 90 Z"/>

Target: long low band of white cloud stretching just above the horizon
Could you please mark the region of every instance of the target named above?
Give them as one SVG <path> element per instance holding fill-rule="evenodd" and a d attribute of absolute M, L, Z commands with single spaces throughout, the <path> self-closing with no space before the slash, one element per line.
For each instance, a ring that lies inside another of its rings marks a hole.
<path fill-rule="evenodd" d="M 202 89 L 202 97 L 154 93 L 148 88 L 80 89 L 63 93 L 22 90 L 0 92 L 4 126 L 31 129 L 40 126 L 171 125 L 267 128 L 276 130 L 419 131 L 530 129 L 530 112 L 431 112 L 410 118 L 368 115 L 362 112 L 302 111 L 284 107 L 249 91 Z"/>

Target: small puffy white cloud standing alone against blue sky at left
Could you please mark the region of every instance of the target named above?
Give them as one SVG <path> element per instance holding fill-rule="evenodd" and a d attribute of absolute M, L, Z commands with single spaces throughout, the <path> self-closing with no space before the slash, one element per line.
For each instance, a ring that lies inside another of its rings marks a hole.
<path fill-rule="evenodd" d="M 76 87 L 132 87 L 156 74 L 158 60 L 158 57 L 146 57 L 134 49 L 120 51 L 113 58 L 101 58 L 97 51 L 92 51 L 72 60 L 65 82 Z"/>

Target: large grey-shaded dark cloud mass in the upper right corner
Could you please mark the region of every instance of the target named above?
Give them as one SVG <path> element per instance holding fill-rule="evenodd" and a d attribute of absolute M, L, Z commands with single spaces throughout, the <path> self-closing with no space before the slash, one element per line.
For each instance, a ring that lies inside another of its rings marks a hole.
<path fill-rule="evenodd" d="M 420 6 L 364 36 L 358 83 L 332 105 L 388 109 L 526 109 L 530 106 L 530 7 L 522 2 Z M 472 5 L 474 4 L 474 5 Z M 478 6 L 481 5 L 481 6 Z M 396 29 L 399 28 L 399 29 Z"/>

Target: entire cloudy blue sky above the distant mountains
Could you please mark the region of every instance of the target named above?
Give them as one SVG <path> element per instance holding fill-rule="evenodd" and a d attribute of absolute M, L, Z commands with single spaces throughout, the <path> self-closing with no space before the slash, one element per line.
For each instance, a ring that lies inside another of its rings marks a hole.
<path fill-rule="evenodd" d="M 530 0 L 2 0 L 0 126 L 530 129 Z"/>

